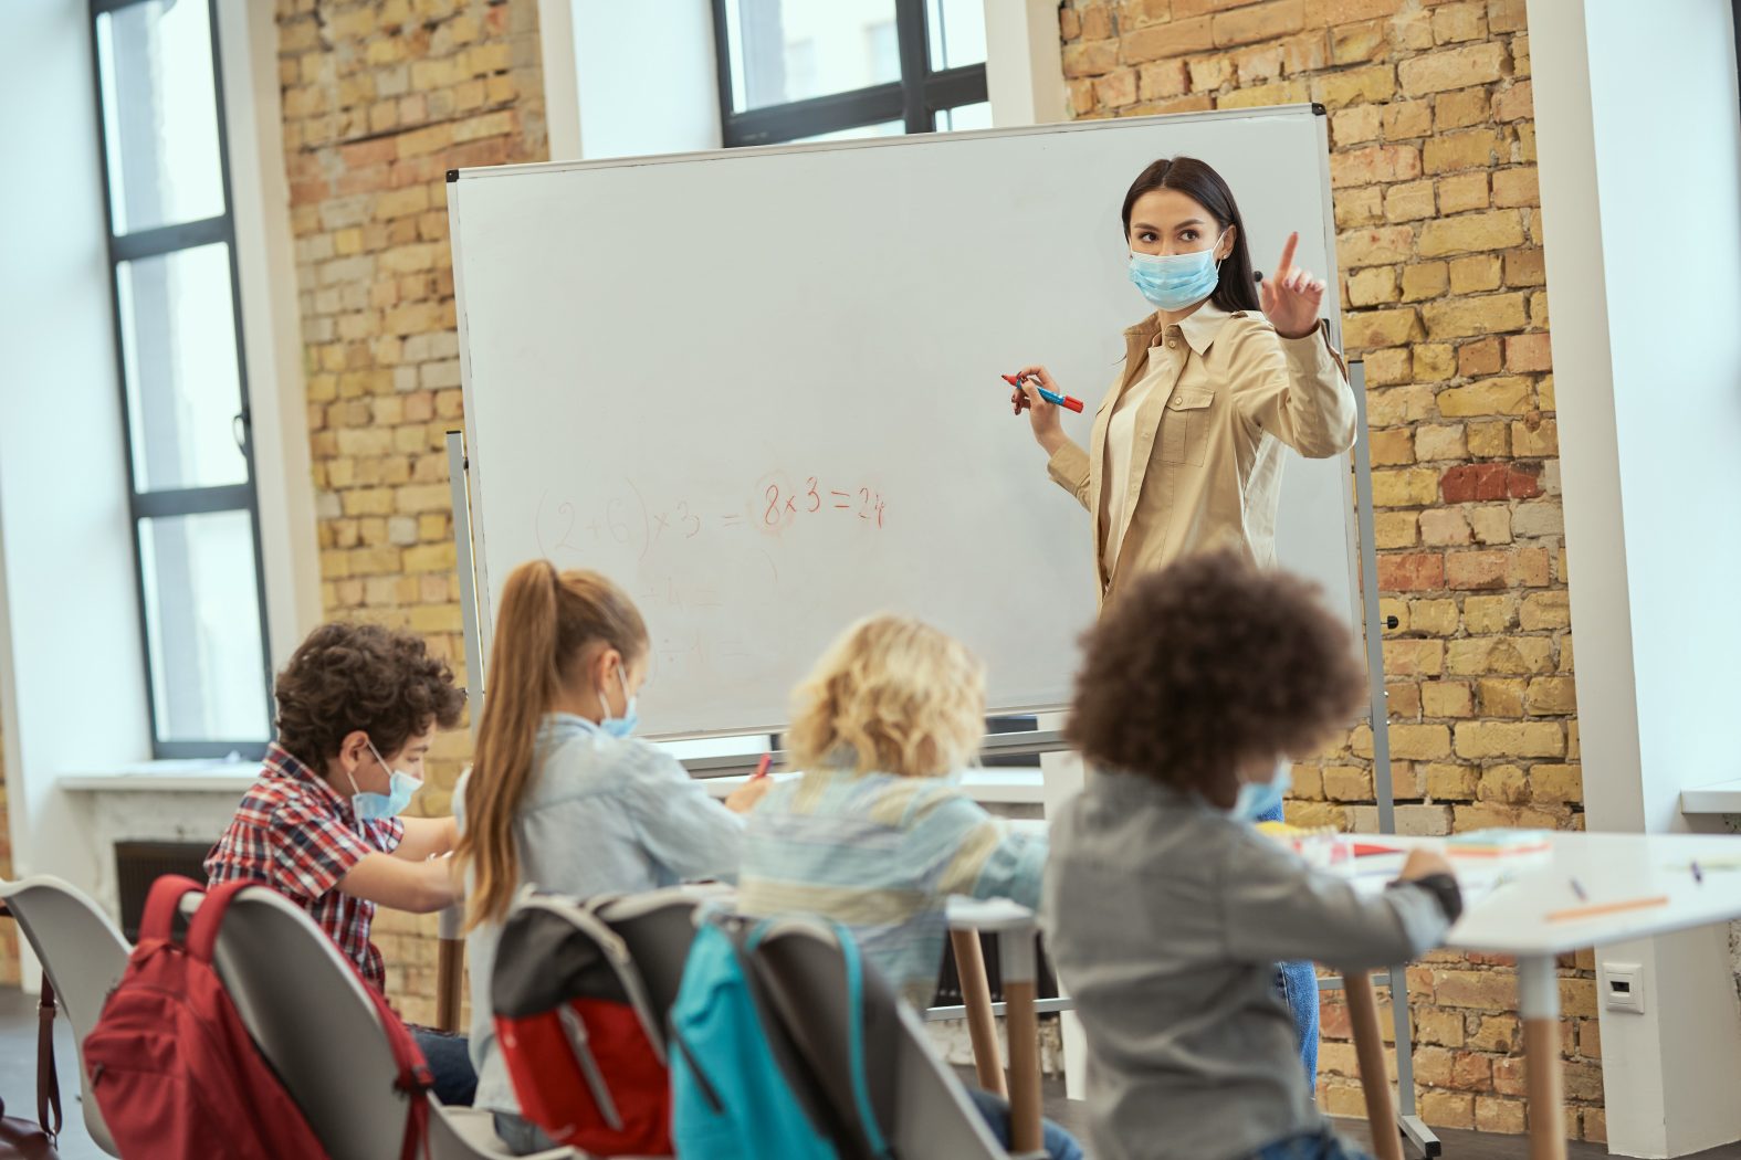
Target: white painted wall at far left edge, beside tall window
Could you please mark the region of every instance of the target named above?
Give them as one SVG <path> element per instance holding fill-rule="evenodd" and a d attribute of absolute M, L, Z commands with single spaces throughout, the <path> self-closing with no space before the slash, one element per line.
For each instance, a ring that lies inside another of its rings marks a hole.
<path fill-rule="evenodd" d="M 80 885 L 99 850 L 64 770 L 150 757 L 91 12 L 17 0 L 0 37 L 0 711 L 12 866 Z"/>

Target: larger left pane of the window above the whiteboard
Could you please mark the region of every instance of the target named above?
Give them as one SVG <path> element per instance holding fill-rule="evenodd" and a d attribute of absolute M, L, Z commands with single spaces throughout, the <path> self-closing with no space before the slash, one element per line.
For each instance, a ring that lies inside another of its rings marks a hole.
<path fill-rule="evenodd" d="M 726 50 L 735 113 L 900 80 L 895 0 L 726 0 Z"/>

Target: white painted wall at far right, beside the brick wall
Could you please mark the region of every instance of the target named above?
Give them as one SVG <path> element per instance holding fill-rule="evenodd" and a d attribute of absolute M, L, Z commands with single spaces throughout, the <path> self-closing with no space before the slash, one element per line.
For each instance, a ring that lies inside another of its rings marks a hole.
<path fill-rule="evenodd" d="M 1741 118 L 1725 0 L 1530 0 L 1548 297 L 1591 830 L 1677 831 L 1741 770 Z M 1671 63 L 1649 68 L 1647 63 Z M 1741 1139 L 1724 930 L 1623 948 L 1644 1016 L 1602 1016 L 1610 1148 Z"/>

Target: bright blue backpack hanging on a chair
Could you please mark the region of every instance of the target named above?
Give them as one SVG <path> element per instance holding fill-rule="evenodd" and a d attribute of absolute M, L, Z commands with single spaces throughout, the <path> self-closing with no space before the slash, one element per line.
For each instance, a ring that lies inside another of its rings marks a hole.
<path fill-rule="evenodd" d="M 782 1068 L 776 1016 L 757 1000 L 752 957 L 770 922 L 747 934 L 743 927 L 742 920 L 709 915 L 684 962 L 670 1009 L 672 1143 L 679 1157 L 707 1160 L 839 1160 Z M 834 932 L 846 963 L 857 1118 L 872 1155 L 886 1157 L 865 1082 L 864 967 L 851 934 L 839 925 Z"/>

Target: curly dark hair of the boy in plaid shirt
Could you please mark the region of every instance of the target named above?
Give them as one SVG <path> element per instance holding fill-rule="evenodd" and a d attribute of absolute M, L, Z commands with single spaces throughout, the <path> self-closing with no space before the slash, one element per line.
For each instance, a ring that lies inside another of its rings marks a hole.
<path fill-rule="evenodd" d="M 308 633 L 279 673 L 279 744 L 322 769 L 346 734 L 364 730 L 381 757 L 432 723 L 460 723 L 465 690 L 421 637 L 336 621 Z"/>

